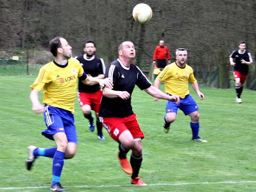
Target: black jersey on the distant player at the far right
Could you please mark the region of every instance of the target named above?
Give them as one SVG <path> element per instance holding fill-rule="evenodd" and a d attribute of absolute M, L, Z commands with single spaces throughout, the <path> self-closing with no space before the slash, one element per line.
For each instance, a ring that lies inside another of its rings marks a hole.
<path fill-rule="evenodd" d="M 243 75 L 248 74 L 248 65 L 245 63 L 241 63 L 241 59 L 245 61 L 250 61 L 252 63 L 252 55 L 248 51 L 244 51 L 243 53 L 239 53 L 239 50 L 235 50 L 231 53 L 229 57 L 232 57 L 236 65 L 234 66 L 234 71 L 238 71 Z"/>

